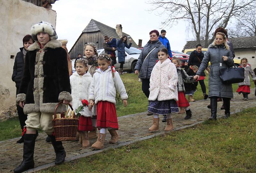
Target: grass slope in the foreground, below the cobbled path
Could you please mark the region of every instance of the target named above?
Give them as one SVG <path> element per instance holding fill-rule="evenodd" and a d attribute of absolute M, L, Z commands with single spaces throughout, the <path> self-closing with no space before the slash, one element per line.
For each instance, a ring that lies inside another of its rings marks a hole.
<path fill-rule="evenodd" d="M 39 171 L 256 172 L 256 108 Z"/>

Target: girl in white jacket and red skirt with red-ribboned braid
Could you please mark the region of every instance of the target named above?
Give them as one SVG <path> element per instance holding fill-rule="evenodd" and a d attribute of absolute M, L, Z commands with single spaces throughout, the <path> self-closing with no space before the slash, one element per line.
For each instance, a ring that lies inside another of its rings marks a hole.
<path fill-rule="evenodd" d="M 109 143 L 116 143 L 119 135 L 116 115 L 116 90 L 119 92 L 124 106 L 127 106 L 128 95 L 124 88 L 122 79 L 118 72 L 110 66 L 111 59 L 108 54 L 98 56 L 99 68 L 92 78 L 89 91 L 90 107 L 97 104 L 97 128 L 100 129 L 97 141 L 92 144 L 92 148 L 104 148 L 106 129 L 111 134 Z"/>

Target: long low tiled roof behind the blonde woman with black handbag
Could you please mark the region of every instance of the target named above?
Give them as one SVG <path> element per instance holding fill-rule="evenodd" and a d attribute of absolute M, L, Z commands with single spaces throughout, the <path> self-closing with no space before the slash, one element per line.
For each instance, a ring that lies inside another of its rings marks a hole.
<path fill-rule="evenodd" d="M 256 48 L 256 36 L 228 38 L 228 41 L 233 43 L 235 50 Z M 196 45 L 197 45 L 197 41 L 187 41 L 182 52 L 184 52 L 185 49 L 195 48 Z M 201 45 L 204 47 L 204 40 L 201 40 Z"/>

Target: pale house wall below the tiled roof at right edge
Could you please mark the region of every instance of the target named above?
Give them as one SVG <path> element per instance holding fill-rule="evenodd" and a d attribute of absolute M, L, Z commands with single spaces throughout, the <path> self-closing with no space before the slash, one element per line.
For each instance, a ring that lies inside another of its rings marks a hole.
<path fill-rule="evenodd" d="M 235 58 L 247 58 L 252 66 L 252 69 L 256 68 L 256 48 L 254 49 L 235 49 Z M 253 58 L 254 57 L 254 58 Z"/>

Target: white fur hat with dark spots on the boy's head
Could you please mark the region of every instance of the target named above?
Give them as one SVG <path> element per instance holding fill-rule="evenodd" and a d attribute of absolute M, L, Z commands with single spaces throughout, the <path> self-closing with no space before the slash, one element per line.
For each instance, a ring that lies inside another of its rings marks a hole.
<path fill-rule="evenodd" d="M 58 36 L 55 32 L 55 29 L 53 28 L 52 24 L 48 23 L 48 22 L 39 22 L 38 24 L 35 24 L 31 27 L 31 35 L 33 40 L 38 41 L 37 40 L 37 36 L 36 34 L 38 32 L 45 32 L 48 33 L 50 35 L 50 39 L 51 40 L 55 40 L 58 39 Z"/>

